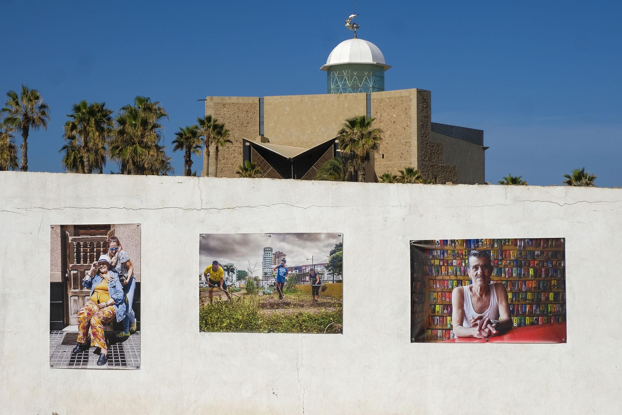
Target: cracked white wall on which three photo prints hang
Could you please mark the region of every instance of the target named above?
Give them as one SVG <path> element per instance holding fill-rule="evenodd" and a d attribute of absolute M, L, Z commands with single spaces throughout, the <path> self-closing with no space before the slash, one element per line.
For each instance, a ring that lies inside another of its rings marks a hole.
<path fill-rule="evenodd" d="M 616 413 L 621 213 L 620 189 L 0 172 L 0 413 Z M 142 223 L 140 370 L 49 367 L 60 223 Z M 344 233 L 343 335 L 198 332 L 199 233 L 302 231 Z M 530 237 L 566 238 L 567 343 L 410 342 L 409 240 Z"/>

